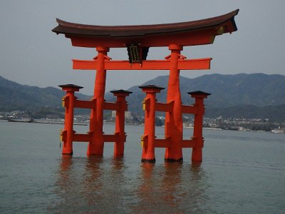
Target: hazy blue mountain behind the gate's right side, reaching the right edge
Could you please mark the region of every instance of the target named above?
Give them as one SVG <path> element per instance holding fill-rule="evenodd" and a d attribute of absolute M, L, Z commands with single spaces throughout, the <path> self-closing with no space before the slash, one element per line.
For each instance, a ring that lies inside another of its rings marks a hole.
<path fill-rule="evenodd" d="M 165 87 L 157 94 L 157 100 L 166 101 L 168 76 L 158 76 L 143 85 L 154 84 Z M 145 98 L 138 86 L 128 89 L 133 94 L 128 98 L 130 111 L 138 112 L 141 102 Z M 234 106 L 279 106 L 285 105 L 285 76 L 267 75 L 264 73 L 239 73 L 235 75 L 209 74 L 197 78 L 180 76 L 180 91 L 182 102 L 191 104 L 193 98 L 187 94 L 190 91 L 205 91 L 212 93 L 205 99 L 209 108 L 230 108 Z M 113 100 L 110 94 L 107 100 Z"/>

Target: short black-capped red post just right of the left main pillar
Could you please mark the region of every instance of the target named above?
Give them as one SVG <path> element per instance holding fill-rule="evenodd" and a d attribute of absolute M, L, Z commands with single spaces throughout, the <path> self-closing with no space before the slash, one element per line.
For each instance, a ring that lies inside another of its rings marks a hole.
<path fill-rule="evenodd" d="M 125 111 L 128 110 L 128 104 L 125 101 L 125 97 L 129 96 L 130 91 L 117 90 L 110 91 L 117 97 L 117 110 L 115 117 L 115 134 L 118 133 L 118 140 L 115 141 L 114 156 L 124 155 L 124 144 L 125 144 Z"/>

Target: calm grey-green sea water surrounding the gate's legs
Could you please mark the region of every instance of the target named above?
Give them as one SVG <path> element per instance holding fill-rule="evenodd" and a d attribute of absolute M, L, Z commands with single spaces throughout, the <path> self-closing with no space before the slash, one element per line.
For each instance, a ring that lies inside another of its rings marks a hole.
<path fill-rule="evenodd" d="M 87 158 L 87 143 L 63 157 L 60 128 L 0 121 L 0 213 L 285 213 L 285 134 L 204 130 L 201 164 L 190 148 L 183 163 L 165 163 L 163 148 L 141 163 L 142 126 L 125 127 L 123 158 L 113 143 L 103 158 Z"/>

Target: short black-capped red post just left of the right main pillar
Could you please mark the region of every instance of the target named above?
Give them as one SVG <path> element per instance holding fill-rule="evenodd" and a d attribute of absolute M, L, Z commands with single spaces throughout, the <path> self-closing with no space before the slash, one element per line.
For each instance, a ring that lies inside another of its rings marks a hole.
<path fill-rule="evenodd" d="M 142 162 L 155 162 L 155 96 L 156 93 L 160 93 L 164 88 L 155 85 L 140 86 L 140 88 L 146 93 L 144 100 L 145 131 L 143 139 L 147 139 L 147 143 L 143 141 Z"/>

